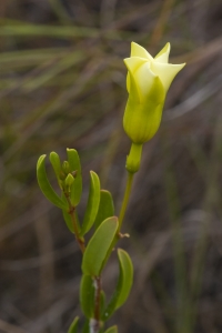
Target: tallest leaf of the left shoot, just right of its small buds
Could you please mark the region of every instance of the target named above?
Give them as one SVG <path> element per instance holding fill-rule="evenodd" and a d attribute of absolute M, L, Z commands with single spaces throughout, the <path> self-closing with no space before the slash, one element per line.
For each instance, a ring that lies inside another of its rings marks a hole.
<path fill-rule="evenodd" d="M 77 172 L 74 175 L 74 185 L 71 189 L 71 203 L 77 206 L 80 202 L 82 195 L 82 171 L 80 158 L 74 149 L 67 149 L 68 162 L 71 169 L 71 172 Z"/>

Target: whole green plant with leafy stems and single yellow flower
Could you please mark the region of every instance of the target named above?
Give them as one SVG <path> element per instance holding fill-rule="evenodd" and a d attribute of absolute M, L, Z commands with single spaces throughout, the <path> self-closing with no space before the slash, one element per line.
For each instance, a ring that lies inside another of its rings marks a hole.
<path fill-rule="evenodd" d="M 184 64 L 169 64 L 170 44 L 153 59 L 142 47 L 132 43 L 131 58 L 124 62 L 129 70 L 127 85 L 129 100 L 123 127 L 132 141 L 127 158 L 128 181 L 119 218 L 114 215 L 114 204 L 109 191 L 100 189 L 97 173 L 90 172 L 90 190 L 83 221 L 79 221 L 78 204 L 82 194 L 82 175 L 79 154 L 67 149 L 67 161 L 61 162 L 56 152 L 50 153 L 50 162 L 61 189 L 61 195 L 52 189 L 46 172 L 46 155 L 39 158 L 37 178 L 46 198 L 60 208 L 69 230 L 74 234 L 82 252 L 82 279 L 80 303 L 85 316 L 82 332 L 115 333 L 117 326 L 104 331 L 104 323 L 123 305 L 133 281 L 133 268 L 129 254 L 117 250 L 119 279 L 109 302 L 102 290 L 101 274 L 121 234 L 121 226 L 128 206 L 134 173 L 140 169 L 142 145 L 158 131 L 168 89 L 175 74 Z M 93 228 L 88 244 L 85 234 Z M 79 317 L 72 322 L 69 333 L 78 332 Z"/>

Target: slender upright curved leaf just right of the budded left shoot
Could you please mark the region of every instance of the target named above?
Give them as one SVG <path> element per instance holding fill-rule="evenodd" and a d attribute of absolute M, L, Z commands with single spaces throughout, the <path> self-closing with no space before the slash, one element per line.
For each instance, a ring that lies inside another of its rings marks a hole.
<path fill-rule="evenodd" d="M 90 192 L 80 235 L 84 235 L 93 225 L 100 204 L 100 179 L 90 171 Z"/>

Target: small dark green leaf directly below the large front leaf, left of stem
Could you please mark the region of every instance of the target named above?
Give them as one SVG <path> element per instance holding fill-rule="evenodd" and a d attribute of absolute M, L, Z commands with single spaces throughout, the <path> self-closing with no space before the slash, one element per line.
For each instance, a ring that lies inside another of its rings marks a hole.
<path fill-rule="evenodd" d="M 94 285 L 92 276 L 90 275 L 82 275 L 80 284 L 80 304 L 84 315 L 88 319 L 91 319 L 94 309 Z"/>

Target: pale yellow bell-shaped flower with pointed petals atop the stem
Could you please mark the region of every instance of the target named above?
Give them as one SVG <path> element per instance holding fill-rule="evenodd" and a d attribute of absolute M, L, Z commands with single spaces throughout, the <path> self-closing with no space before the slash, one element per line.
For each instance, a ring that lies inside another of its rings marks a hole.
<path fill-rule="evenodd" d="M 144 48 L 132 42 L 131 57 L 124 59 L 128 68 L 129 99 L 124 111 L 123 128 L 132 142 L 139 145 L 133 150 L 140 150 L 140 154 L 141 144 L 152 139 L 159 129 L 171 82 L 185 65 L 185 63 L 169 63 L 169 53 L 170 43 L 167 43 L 158 56 L 152 58 Z"/>

